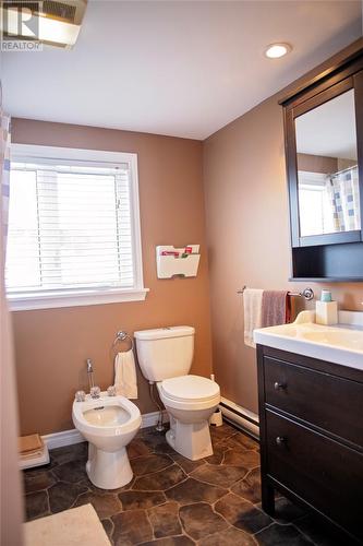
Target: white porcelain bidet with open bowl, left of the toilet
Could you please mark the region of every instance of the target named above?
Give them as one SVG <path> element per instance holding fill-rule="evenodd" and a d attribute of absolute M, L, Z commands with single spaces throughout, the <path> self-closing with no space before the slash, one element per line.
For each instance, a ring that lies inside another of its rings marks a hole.
<path fill-rule="evenodd" d="M 126 446 L 141 427 L 138 407 L 124 396 L 99 399 L 89 394 L 84 402 L 73 402 L 73 424 L 88 441 L 86 471 L 100 489 L 117 489 L 133 477 Z"/>

